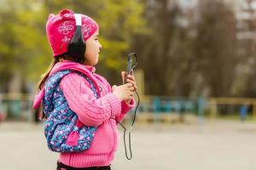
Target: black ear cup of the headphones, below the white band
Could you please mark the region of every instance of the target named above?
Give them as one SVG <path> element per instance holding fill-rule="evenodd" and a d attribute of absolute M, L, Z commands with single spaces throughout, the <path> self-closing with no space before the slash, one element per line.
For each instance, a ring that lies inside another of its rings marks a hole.
<path fill-rule="evenodd" d="M 81 26 L 77 26 L 73 38 L 68 43 L 67 53 L 74 58 L 84 57 L 85 42 L 82 36 Z"/>

